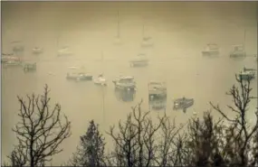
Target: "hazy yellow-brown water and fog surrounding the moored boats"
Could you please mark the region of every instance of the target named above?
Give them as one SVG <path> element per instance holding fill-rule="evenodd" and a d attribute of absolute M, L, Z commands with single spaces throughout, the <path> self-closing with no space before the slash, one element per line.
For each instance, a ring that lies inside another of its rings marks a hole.
<path fill-rule="evenodd" d="M 231 45 L 244 41 L 244 29 L 247 54 L 257 53 L 255 6 L 250 3 L 30 2 L 3 3 L 2 9 L 2 50 L 10 51 L 10 42 L 21 40 L 25 47 L 24 59 L 38 62 L 36 73 L 24 74 L 21 69 L 2 70 L 4 159 L 15 142 L 11 128 L 18 121 L 16 96 L 41 93 L 45 83 L 52 90 L 53 102 L 61 103 L 62 112 L 72 121 L 72 136 L 62 144 L 64 151 L 53 159 L 53 164 L 58 165 L 75 150 L 79 135 L 86 131 L 91 119 L 96 120 L 104 132 L 109 125 L 124 119 L 130 107 L 141 98 L 145 100 L 143 107 L 147 110 L 149 80 L 167 82 L 167 115 L 177 116 L 177 122 L 183 123 L 193 116 L 194 110 L 201 114 L 209 109 L 209 101 L 222 106 L 231 103 L 225 91 L 234 83 L 234 73 L 243 66 L 257 67 L 253 57 L 230 60 L 228 56 Z M 114 46 L 118 9 L 123 45 Z M 153 48 L 140 47 L 142 15 L 146 18 L 146 34 L 153 37 Z M 202 58 L 200 52 L 207 42 L 220 45 L 220 58 Z M 35 45 L 44 49 L 37 58 L 32 54 Z M 57 48 L 63 45 L 69 45 L 74 56 L 57 58 Z M 101 51 L 104 62 L 100 62 Z M 128 61 L 139 52 L 148 54 L 149 66 L 130 68 Z M 104 71 L 109 79 L 109 86 L 104 90 L 104 111 L 99 87 L 91 82 L 74 83 L 65 79 L 67 68 L 77 65 L 84 65 L 94 76 Z M 119 74 L 135 77 L 138 91 L 133 102 L 121 102 L 115 97 L 111 79 Z M 256 85 L 257 79 L 254 79 L 254 94 Z M 172 100 L 182 96 L 195 98 L 195 106 L 186 114 L 172 111 Z M 250 109 L 255 105 L 254 102 Z M 152 114 L 155 116 L 157 112 Z"/>

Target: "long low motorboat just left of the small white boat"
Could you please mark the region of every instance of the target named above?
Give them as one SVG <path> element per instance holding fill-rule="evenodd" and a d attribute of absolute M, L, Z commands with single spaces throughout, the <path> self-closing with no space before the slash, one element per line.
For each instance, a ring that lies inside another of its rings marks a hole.
<path fill-rule="evenodd" d="M 92 80 L 92 75 L 84 72 L 82 69 L 77 67 L 70 67 L 71 71 L 67 72 L 66 79 L 76 81 L 87 81 Z"/>

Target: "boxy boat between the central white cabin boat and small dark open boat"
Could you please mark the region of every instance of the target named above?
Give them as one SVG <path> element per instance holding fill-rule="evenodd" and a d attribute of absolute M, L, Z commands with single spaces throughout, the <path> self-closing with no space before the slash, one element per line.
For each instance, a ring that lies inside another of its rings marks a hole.
<path fill-rule="evenodd" d="M 148 83 L 148 99 L 149 101 L 166 100 L 167 87 L 164 82 L 151 81 Z"/>

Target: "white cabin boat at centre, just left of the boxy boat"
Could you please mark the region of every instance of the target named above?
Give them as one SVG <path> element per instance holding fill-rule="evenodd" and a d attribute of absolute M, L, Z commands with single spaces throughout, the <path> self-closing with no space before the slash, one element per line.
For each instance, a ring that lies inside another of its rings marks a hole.
<path fill-rule="evenodd" d="M 119 76 L 112 80 L 115 88 L 120 90 L 136 90 L 136 82 L 132 76 Z"/>

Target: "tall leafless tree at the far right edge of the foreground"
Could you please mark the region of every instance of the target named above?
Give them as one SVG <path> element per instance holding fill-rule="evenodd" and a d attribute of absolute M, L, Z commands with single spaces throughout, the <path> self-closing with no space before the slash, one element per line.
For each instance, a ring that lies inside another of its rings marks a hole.
<path fill-rule="evenodd" d="M 246 166 L 248 164 L 248 153 L 250 151 L 250 141 L 255 133 L 257 133 L 258 128 L 258 119 L 257 111 L 255 111 L 256 122 L 250 127 L 246 116 L 250 113 L 249 104 L 252 100 L 252 89 L 251 88 L 251 78 L 250 79 L 238 79 L 236 77 L 238 87 L 233 86 L 226 94 L 233 98 L 234 106 L 227 106 L 230 108 L 234 114 L 235 118 L 230 118 L 225 114 L 218 105 L 215 106 L 210 102 L 211 106 L 219 112 L 228 122 L 231 124 L 230 135 L 232 139 L 228 139 L 230 142 L 231 148 L 226 149 L 225 152 L 234 152 L 231 153 L 231 159 L 227 160 L 236 165 Z M 248 112 L 248 113 L 247 113 Z M 234 147 L 234 150 L 232 148 Z M 229 153 L 230 154 L 230 153 Z"/>

